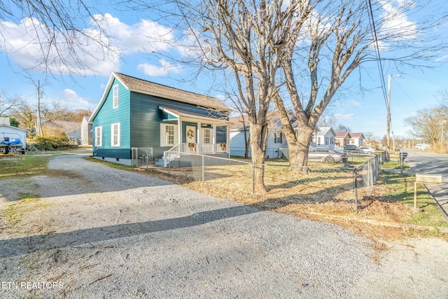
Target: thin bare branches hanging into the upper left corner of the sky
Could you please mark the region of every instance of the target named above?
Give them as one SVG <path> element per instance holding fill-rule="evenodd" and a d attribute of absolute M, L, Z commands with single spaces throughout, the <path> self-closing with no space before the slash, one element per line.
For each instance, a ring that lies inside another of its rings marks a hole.
<path fill-rule="evenodd" d="M 33 67 L 25 67 L 25 71 L 70 75 L 96 73 L 97 70 L 91 68 L 88 58 L 102 53 L 102 58 L 107 60 L 116 54 L 101 22 L 94 18 L 95 6 L 102 5 L 101 2 L 99 0 L 0 1 L 0 20 L 22 25 L 25 34 L 30 36 L 30 43 L 35 44 L 35 48 L 39 50 L 33 57 Z M 0 28 L 3 40 L 0 49 L 7 54 L 13 54 L 5 36 L 8 28 L 1 25 Z M 88 46 L 94 46 L 97 51 L 87 50 Z"/>

